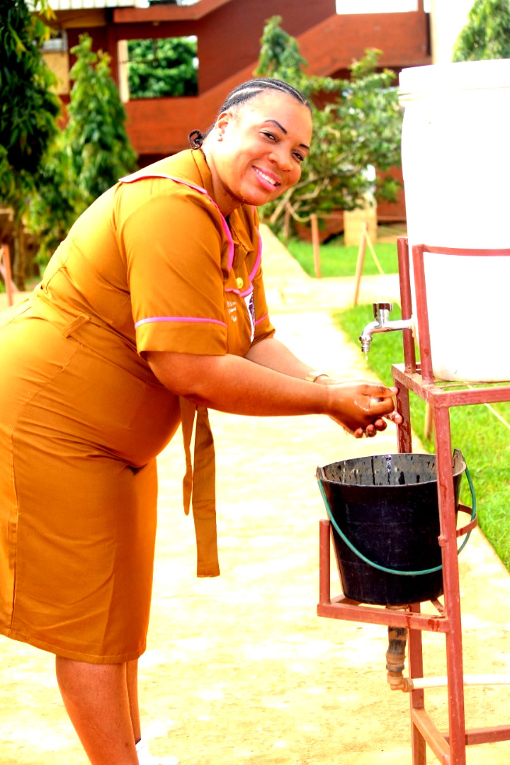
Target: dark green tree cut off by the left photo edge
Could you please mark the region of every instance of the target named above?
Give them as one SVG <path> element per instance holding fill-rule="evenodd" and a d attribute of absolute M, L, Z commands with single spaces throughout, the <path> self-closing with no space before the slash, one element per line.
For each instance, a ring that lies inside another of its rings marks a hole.
<path fill-rule="evenodd" d="M 50 14 L 47 0 L 32 7 Z M 18 288 L 24 288 L 22 217 L 34 174 L 57 134 L 60 102 L 51 93 L 54 76 L 40 53 L 50 34 L 43 19 L 23 0 L 0 0 L 0 200 L 11 207 L 15 223 L 15 268 Z"/>

